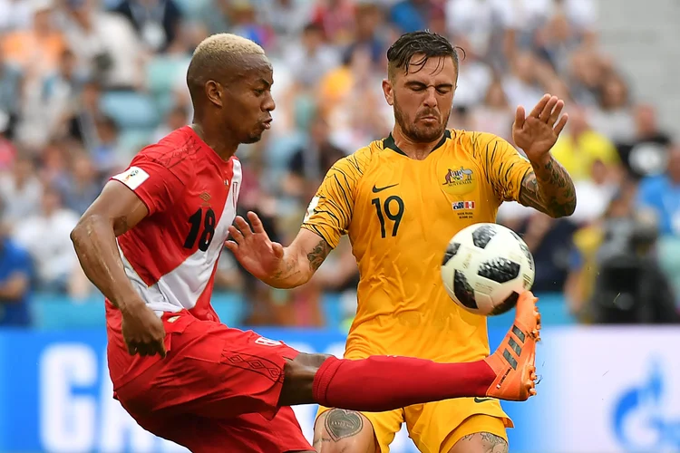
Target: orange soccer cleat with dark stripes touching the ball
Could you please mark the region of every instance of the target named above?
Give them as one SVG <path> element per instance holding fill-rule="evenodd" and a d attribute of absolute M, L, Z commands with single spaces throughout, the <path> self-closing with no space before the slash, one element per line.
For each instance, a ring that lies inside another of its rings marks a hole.
<path fill-rule="evenodd" d="M 537 301 L 530 291 L 520 295 L 510 332 L 496 352 L 484 359 L 496 373 L 487 396 L 524 401 L 536 394 L 536 343 L 540 341 Z"/>

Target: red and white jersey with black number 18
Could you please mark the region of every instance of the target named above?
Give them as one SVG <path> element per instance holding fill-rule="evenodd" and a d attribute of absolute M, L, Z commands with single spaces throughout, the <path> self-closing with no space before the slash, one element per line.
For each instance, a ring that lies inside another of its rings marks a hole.
<path fill-rule="evenodd" d="M 146 304 L 156 312 L 188 309 L 217 321 L 210 295 L 236 217 L 238 159 L 221 159 L 187 126 L 142 149 L 112 179 L 149 208 L 148 217 L 118 237 L 125 273 Z M 120 319 L 108 302 L 107 318 L 110 324 Z"/>

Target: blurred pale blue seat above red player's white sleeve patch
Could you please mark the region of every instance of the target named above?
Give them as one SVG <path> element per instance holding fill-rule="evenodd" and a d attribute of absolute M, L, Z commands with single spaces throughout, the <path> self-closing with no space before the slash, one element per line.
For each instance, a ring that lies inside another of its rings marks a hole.
<path fill-rule="evenodd" d="M 141 92 L 105 92 L 100 107 L 121 129 L 152 129 L 160 121 L 151 96 Z"/>

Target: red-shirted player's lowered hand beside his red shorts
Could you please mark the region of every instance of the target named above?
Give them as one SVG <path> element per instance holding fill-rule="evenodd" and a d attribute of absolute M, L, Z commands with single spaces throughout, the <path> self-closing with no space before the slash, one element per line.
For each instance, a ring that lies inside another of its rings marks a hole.
<path fill-rule="evenodd" d="M 165 328 L 160 318 L 146 304 L 122 312 L 122 338 L 131 355 L 165 357 Z"/>

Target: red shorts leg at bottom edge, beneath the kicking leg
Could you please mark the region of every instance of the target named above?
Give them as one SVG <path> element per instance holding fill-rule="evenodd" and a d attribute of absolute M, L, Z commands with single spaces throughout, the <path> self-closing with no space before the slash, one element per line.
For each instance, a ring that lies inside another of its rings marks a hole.
<path fill-rule="evenodd" d="M 273 419 L 246 414 L 235 419 L 177 417 L 134 417 L 142 428 L 168 439 L 192 453 L 288 453 L 314 452 L 300 429 L 293 410 L 282 408 Z"/>

